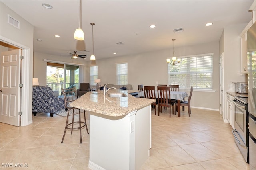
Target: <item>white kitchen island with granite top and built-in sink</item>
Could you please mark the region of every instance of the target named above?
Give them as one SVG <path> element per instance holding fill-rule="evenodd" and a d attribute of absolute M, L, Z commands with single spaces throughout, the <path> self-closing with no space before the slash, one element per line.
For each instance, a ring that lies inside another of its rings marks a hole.
<path fill-rule="evenodd" d="M 151 103 L 132 90 L 87 92 L 70 106 L 90 111 L 91 169 L 138 169 L 151 148 Z"/>

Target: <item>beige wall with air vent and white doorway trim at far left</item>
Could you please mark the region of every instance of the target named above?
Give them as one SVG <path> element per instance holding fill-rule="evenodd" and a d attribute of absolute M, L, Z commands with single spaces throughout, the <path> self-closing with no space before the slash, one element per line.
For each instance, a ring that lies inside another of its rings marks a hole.
<path fill-rule="evenodd" d="M 33 39 L 34 27 L 5 4 L 0 2 L 0 30 L 1 41 L 23 49 L 22 54 L 25 56 L 22 61 L 22 122 L 21 125 L 32 123 L 32 74 L 33 74 Z M 8 14 L 20 21 L 20 29 L 10 25 Z M 3 48 L 1 48 L 2 50 Z"/>

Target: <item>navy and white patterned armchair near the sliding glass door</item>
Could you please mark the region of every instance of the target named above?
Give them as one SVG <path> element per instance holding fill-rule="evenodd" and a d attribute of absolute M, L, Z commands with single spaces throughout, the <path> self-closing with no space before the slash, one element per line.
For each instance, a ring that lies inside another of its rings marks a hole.
<path fill-rule="evenodd" d="M 32 111 L 34 116 L 36 113 L 53 113 L 61 109 L 65 109 L 64 98 L 58 98 L 54 95 L 52 88 L 45 86 L 33 87 L 33 104 Z"/>

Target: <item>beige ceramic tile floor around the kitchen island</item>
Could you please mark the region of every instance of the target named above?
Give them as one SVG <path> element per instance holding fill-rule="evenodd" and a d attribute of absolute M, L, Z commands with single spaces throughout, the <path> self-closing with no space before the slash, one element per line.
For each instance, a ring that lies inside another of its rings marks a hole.
<path fill-rule="evenodd" d="M 186 108 L 187 110 L 187 108 Z M 89 113 L 86 112 L 90 129 Z M 73 135 L 67 131 L 61 139 L 66 117 L 39 113 L 26 127 L 0 123 L 0 169 L 75 170 L 90 169 L 89 137 L 82 129 Z M 224 123 L 218 111 L 193 109 L 171 115 L 168 109 L 160 116 L 152 110 L 152 149 L 140 169 L 153 170 L 246 170 L 234 143 L 231 126 Z M 5 163 L 22 164 L 24 168 L 6 168 Z"/>

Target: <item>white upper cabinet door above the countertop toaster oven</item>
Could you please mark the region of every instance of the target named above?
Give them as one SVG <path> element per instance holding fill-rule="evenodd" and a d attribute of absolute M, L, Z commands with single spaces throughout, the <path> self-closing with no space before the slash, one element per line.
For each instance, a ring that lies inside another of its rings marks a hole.
<path fill-rule="evenodd" d="M 241 37 L 241 74 L 247 74 L 247 32 Z"/>

